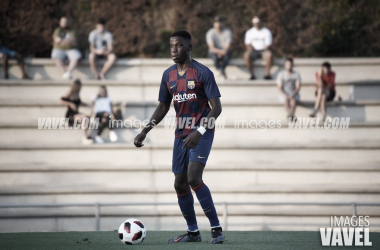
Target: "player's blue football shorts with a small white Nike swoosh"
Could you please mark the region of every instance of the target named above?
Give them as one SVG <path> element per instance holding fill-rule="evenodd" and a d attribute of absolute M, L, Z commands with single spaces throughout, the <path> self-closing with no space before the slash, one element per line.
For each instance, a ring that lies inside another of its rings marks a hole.
<path fill-rule="evenodd" d="M 198 145 L 193 149 L 182 148 L 183 144 L 185 144 L 183 141 L 185 138 L 176 137 L 174 140 L 172 172 L 175 174 L 187 173 L 190 161 L 197 161 L 206 166 L 212 142 L 214 141 L 214 132 L 207 130 L 202 135 Z"/>

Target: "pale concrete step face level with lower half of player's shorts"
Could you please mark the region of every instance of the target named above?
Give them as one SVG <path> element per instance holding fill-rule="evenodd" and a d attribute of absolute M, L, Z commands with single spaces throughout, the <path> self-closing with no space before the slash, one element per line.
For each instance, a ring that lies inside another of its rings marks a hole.
<path fill-rule="evenodd" d="M 74 146 L 74 147 L 6 147 L 0 150 L 2 166 L 33 164 L 41 166 L 166 166 L 171 170 L 172 147 L 133 147 Z M 379 166 L 379 148 L 334 148 L 334 147 L 213 147 L 207 165 L 213 166 Z"/>

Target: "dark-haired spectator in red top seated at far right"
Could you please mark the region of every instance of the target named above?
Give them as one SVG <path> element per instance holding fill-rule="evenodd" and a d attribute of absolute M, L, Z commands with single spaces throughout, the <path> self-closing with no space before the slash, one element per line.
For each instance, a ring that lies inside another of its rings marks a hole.
<path fill-rule="evenodd" d="M 318 109 L 321 108 L 322 120 L 324 121 L 326 119 L 326 102 L 333 101 L 336 95 L 335 72 L 331 70 L 331 64 L 324 62 L 321 70 L 315 73 L 315 78 L 317 80 L 317 90 L 315 91 L 317 99 L 310 117 L 315 117 Z"/>

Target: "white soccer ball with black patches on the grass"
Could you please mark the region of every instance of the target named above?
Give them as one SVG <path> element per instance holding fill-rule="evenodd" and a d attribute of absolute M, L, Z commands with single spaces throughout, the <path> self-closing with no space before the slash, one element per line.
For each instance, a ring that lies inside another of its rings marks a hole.
<path fill-rule="evenodd" d="M 119 227 L 119 239 L 126 245 L 137 245 L 143 242 L 146 237 L 144 224 L 134 218 L 130 218 Z"/>

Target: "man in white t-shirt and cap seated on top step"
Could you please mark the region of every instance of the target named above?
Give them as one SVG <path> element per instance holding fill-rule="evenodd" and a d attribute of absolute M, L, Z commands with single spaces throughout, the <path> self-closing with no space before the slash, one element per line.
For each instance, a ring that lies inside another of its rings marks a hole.
<path fill-rule="evenodd" d="M 252 19 L 253 27 L 245 33 L 245 47 L 244 60 L 249 72 L 251 73 L 250 80 L 256 79 L 253 69 L 253 62 L 258 58 L 265 60 L 265 77 L 264 79 L 272 79 L 270 76 L 270 68 L 272 67 L 273 54 L 271 51 L 272 46 L 272 33 L 269 29 L 262 26 L 259 17 L 255 16 Z"/>

